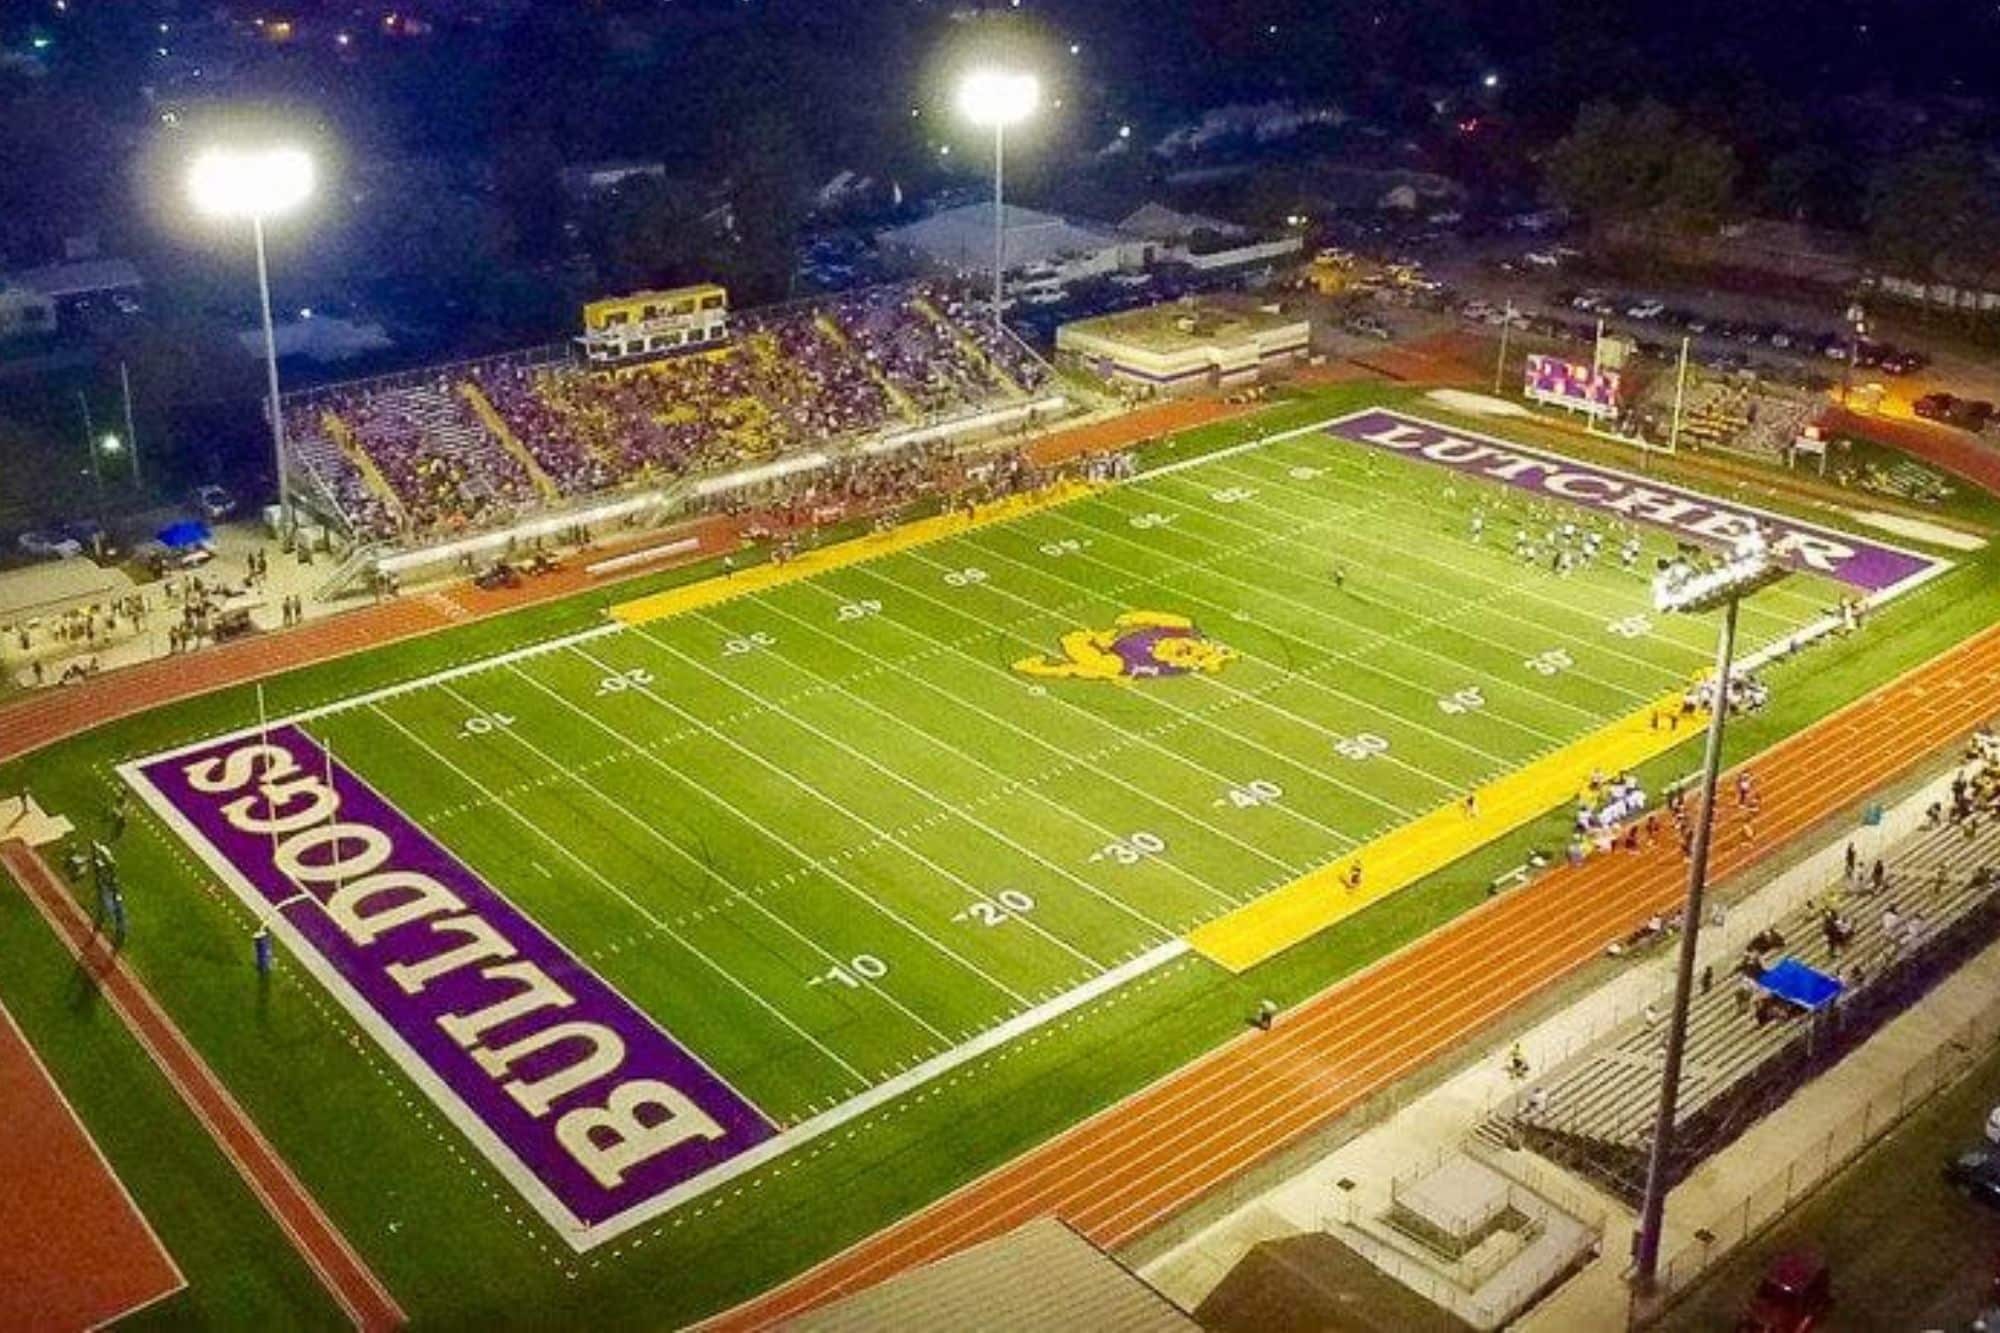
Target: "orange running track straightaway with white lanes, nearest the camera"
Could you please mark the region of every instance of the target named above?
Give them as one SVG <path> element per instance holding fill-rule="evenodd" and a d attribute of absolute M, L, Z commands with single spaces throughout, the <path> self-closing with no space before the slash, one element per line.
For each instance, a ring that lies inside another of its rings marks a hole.
<path fill-rule="evenodd" d="M 1754 759 L 1762 813 L 1746 821 L 1724 797 L 1712 873 L 1760 861 L 1994 713 L 2000 626 Z M 1128 1245 L 1600 957 L 1678 905 L 1684 881 L 1672 839 L 1544 875 L 708 1327 L 770 1327 L 1048 1213 Z"/>

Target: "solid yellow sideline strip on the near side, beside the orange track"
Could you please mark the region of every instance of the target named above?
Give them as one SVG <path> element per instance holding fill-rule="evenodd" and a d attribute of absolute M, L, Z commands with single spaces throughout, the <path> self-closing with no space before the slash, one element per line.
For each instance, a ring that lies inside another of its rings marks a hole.
<path fill-rule="evenodd" d="M 1430 811 L 1356 847 L 1340 861 L 1210 921 L 1188 935 L 1188 943 L 1232 973 L 1248 971 L 1370 903 L 1380 903 L 1486 843 L 1576 801 L 1592 773 L 1614 777 L 1698 737 L 1706 715 L 1698 715 L 1694 725 L 1688 725 L 1690 719 L 1680 719 L 1678 729 L 1668 727 L 1666 719 L 1678 709 L 1680 695 L 1670 695 L 1618 719 L 1554 755 L 1544 755 L 1480 787 L 1478 815 L 1466 815 L 1460 805 Z M 1652 725 L 1656 711 L 1662 721 L 1658 731 Z M 1348 889 L 1346 877 L 1356 861 L 1362 865 L 1362 883 L 1358 889 Z"/>

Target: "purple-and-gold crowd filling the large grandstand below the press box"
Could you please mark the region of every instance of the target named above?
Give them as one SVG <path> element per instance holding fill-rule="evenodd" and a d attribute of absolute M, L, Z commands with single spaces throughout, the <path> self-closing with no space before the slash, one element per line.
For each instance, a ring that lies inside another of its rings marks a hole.
<path fill-rule="evenodd" d="M 948 290 L 884 286 L 742 314 L 722 348 L 620 370 L 496 360 L 336 386 L 286 408 L 286 438 L 356 538 L 422 540 L 956 416 L 1048 378 Z"/>

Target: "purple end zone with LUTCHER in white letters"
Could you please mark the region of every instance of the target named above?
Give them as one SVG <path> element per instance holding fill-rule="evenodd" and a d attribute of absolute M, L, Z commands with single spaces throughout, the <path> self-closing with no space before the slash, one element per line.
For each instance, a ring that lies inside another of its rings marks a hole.
<path fill-rule="evenodd" d="M 1776 532 L 1772 550 L 1792 568 L 1826 574 L 1866 592 L 1882 592 L 1942 564 L 1850 532 L 1798 522 L 1758 508 L 1728 504 L 1696 490 L 1636 478 L 1588 462 L 1548 454 L 1486 434 L 1452 430 L 1400 412 L 1356 412 L 1326 432 L 1424 462 L 1498 480 L 1550 500 L 1566 500 L 1666 528 L 1698 542 L 1728 542 L 1756 528 Z"/>

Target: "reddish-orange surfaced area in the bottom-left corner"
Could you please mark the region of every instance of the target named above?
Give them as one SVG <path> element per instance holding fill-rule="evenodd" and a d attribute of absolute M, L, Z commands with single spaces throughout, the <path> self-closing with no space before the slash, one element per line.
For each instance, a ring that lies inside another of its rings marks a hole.
<path fill-rule="evenodd" d="M 0 1329 L 96 1329 L 186 1287 L 0 1005 Z"/>

